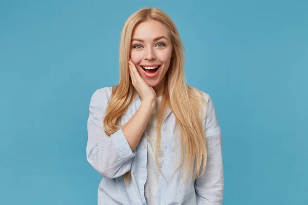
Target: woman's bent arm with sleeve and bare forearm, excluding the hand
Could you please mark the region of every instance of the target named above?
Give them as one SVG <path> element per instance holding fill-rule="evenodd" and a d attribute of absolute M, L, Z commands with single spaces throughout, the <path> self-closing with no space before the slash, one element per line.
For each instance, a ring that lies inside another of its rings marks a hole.
<path fill-rule="evenodd" d="M 105 133 L 103 120 L 108 96 L 106 89 L 95 91 L 91 97 L 88 118 L 87 160 L 103 177 L 115 178 L 130 171 L 134 150 L 150 117 L 144 100 L 127 124 L 110 137 Z"/>

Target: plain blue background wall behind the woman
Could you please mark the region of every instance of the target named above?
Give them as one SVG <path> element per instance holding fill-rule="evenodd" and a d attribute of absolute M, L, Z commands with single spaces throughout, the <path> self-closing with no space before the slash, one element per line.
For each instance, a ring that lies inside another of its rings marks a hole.
<path fill-rule="evenodd" d="M 1 1 L 0 204 L 97 204 L 92 93 L 119 81 L 125 20 L 163 9 L 214 100 L 223 204 L 308 204 L 307 1 Z"/>

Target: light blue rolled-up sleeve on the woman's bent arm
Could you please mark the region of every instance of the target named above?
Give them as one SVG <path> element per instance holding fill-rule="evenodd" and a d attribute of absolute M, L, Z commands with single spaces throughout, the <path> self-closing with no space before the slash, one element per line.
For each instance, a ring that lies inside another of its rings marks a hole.
<path fill-rule="evenodd" d="M 115 178 L 130 170 L 135 153 L 131 151 L 122 128 L 110 136 L 104 131 L 103 119 L 108 103 L 104 89 L 98 89 L 91 96 L 86 154 L 90 165 L 103 177 Z"/>

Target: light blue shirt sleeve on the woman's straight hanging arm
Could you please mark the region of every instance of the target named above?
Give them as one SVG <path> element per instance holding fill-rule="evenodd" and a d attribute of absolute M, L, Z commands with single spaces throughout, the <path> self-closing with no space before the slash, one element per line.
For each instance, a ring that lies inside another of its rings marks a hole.
<path fill-rule="evenodd" d="M 195 180 L 198 205 L 221 205 L 224 192 L 221 131 L 218 125 L 213 100 L 207 100 L 205 118 L 207 163 L 205 173 Z"/>

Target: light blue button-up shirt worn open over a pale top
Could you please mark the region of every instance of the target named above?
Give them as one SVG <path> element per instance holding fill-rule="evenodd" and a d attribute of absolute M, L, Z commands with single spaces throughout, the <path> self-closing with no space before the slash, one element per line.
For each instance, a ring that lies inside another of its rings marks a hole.
<path fill-rule="evenodd" d="M 98 89 L 93 93 L 89 105 L 87 160 L 103 176 L 98 189 L 98 204 L 147 204 L 144 197 L 147 176 L 147 150 L 144 145 L 147 145 L 147 139 L 142 137 L 143 145 L 139 143 L 132 152 L 122 128 L 111 136 L 105 133 L 103 118 L 110 95 L 111 87 Z M 168 109 L 161 130 L 165 156 L 161 171 L 168 181 L 163 176 L 159 179 L 156 198 L 156 203 L 159 205 L 220 205 L 222 203 L 224 177 L 221 131 L 213 101 L 204 92 L 203 96 L 208 103 L 208 113 L 203 121 L 208 154 L 205 174 L 194 181 L 187 180 L 184 183 L 182 165 L 172 175 L 179 165 L 181 149 L 175 129 L 175 116 Z M 140 105 L 141 100 L 137 95 L 122 116 L 121 125 L 128 122 Z M 204 111 L 205 115 L 206 111 Z M 131 171 L 131 182 L 125 187 L 123 175 L 128 171 Z"/>

